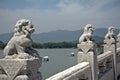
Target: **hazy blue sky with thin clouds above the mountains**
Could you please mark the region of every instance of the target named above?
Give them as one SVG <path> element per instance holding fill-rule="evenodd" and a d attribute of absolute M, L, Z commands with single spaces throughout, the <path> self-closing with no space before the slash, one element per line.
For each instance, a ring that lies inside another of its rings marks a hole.
<path fill-rule="evenodd" d="M 120 0 L 0 0 L 0 34 L 13 32 L 19 19 L 29 19 L 35 33 L 120 27 Z"/>

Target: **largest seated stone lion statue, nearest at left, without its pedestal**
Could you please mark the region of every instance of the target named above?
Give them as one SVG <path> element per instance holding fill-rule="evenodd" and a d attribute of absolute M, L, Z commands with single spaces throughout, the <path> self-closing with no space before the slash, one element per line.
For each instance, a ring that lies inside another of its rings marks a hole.
<path fill-rule="evenodd" d="M 30 20 L 18 20 L 14 28 L 14 35 L 4 48 L 5 58 L 39 57 L 37 51 L 31 48 L 31 34 L 34 31 L 34 26 Z"/>

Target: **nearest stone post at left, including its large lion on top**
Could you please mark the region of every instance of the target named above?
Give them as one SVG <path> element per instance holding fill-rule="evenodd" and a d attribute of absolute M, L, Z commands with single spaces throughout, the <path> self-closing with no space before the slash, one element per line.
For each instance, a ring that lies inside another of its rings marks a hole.
<path fill-rule="evenodd" d="M 4 48 L 0 59 L 0 80 L 42 80 L 39 68 L 42 59 L 32 49 L 31 34 L 34 26 L 30 20 L 18 20 L 14 35 Z"/>

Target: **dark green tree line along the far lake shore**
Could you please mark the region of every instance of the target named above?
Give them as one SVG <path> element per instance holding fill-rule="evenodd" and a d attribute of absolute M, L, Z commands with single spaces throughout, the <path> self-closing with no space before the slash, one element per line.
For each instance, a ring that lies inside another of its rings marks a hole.
<path fill-rule="evenodd" d="M 37 49 L 54 49 L 54 48 L 77 48 L 77 41 L 73 42 L 47 42 L 47 43 L 39 43 L 33 42 L 32 47 Z M 3 43 L 0 41 L 0 49 L 4 49 L 7 43 Z M 99 54 L 103 53 L 103 43 L 97 43 L 97 52 Z"/>

